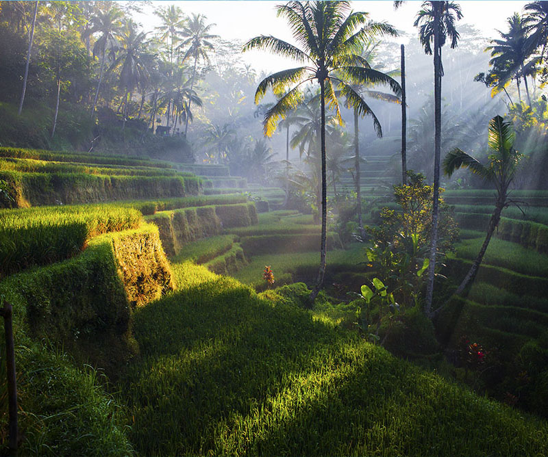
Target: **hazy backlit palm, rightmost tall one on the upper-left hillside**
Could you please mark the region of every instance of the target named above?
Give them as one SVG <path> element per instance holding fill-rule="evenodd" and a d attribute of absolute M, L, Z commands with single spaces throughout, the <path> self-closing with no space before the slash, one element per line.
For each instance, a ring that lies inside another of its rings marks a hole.
<path fill-rule="evenodd" d="M 190 83 L 190 91 L 194 89 L 194 83 L 196 80 L 196 66 L 198 63 L 198 58 L 210 64 L 210 58 L 208 56 L 208 51 L 213 49 L 213 44 L 209 40 L 213 38 L 218 38 L 217 35 L 212 35 L 209 33 L 211 27 L 215 24 L 206 25 L 206 16 L 203 14 L 192 14 L 192 18 L 188 20 L 188 25 L 182 31 L 182 36 L 186 37 L 186 40 L 183 40 L 180 47 L 186 47 L 186 51 L 183 60 L 186 60 L 188 57 L 194 57 L 194 66 L 192 66 L 192 83 Z M 192 100 L 188 99 L 188 109 L 190 109 L 190 103 Z M 186 123 L 184 126 L 184 135 L 188 131 L 188 117 L 186 118 Z"/>

